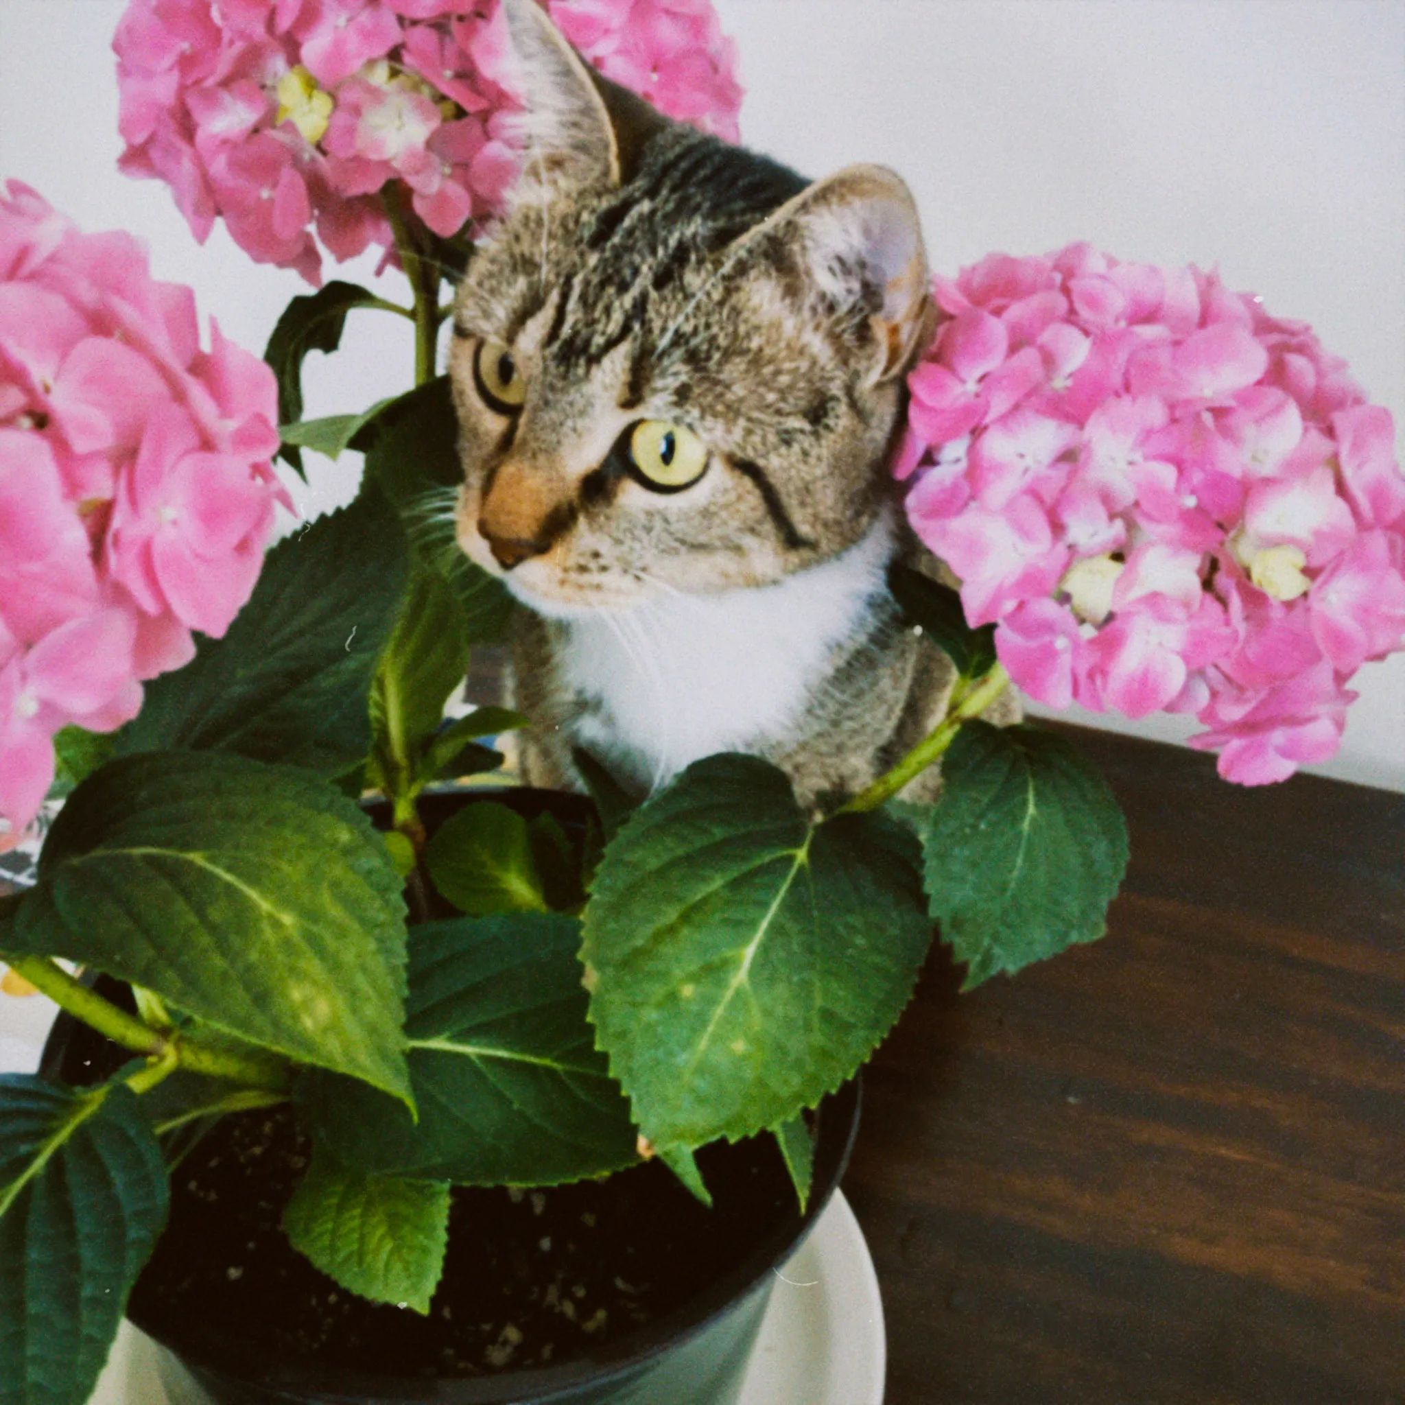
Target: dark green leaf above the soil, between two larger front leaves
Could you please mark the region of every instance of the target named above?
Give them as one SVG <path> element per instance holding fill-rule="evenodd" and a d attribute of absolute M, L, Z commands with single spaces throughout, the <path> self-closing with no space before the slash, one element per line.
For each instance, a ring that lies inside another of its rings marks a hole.
<path fill-rule="evenodd" d="M 476 808 L 476 806 L 475 806 Z M 296 1097 L 346 1166 L 458 1184 L 552 1184 L 634 1165 L 629 1104 L 586 1023 L 580 924 L 538 913 L 410 934 L 419 1123 L 364 1083 L 311 1072 Z"/>

